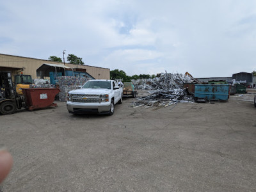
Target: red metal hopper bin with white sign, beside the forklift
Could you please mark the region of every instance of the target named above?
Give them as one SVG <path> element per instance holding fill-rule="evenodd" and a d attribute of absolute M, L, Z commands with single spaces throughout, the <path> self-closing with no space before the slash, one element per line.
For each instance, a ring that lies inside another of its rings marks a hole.
<path fill-rule="evenodd" d="M 30 111 L 33 109 L 57 106 L 53 103 L 55 96 L 60 93 L 59 88 L 26 88 L 22 89 L 26 105 Z"/>

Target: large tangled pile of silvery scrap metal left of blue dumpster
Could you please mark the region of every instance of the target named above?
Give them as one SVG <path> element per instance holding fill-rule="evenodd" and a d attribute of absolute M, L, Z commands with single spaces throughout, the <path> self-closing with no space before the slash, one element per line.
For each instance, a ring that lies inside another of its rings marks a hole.
<path fill-rule="evenodd" d="M 195 83 L 189 76 L 182 74 L 162 73 L 154 79 L 132 80 L 137 89 L 150 90 L 150 95 L 140 97 L 132 104 L 134 108 L 144 107 L 168 107 L 177 102 L 194 102 L 194 94 L 183 88 L 184 83 Z"/>

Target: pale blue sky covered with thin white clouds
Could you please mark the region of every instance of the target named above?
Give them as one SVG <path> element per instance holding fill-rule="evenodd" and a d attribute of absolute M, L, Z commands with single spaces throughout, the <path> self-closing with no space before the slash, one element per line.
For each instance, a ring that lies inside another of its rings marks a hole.
<path fill-rule="evenodd" d="M 256 70 L 256 1 L 0 1 L 0 53 L 134 74 Z"/>

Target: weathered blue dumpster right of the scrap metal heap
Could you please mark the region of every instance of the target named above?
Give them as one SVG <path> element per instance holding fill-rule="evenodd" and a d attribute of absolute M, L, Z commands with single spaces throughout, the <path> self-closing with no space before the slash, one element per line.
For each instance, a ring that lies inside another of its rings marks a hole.
<path fill-rule="evenodd" d="M 228 100 L 229 84 L 195 84 L 196 99 Z"/>

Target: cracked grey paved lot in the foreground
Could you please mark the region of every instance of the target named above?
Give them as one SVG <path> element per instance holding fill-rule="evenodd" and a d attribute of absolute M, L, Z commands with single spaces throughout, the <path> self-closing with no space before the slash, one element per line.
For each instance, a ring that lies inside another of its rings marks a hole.
<path fill-rule="evenodd" d="M 140 95 L 139 95 L 140 96 Z M 12 172 L 0 191 L 256 191 L 253 95 L 113 116 L 58 108 L 0 116 Z"/>

